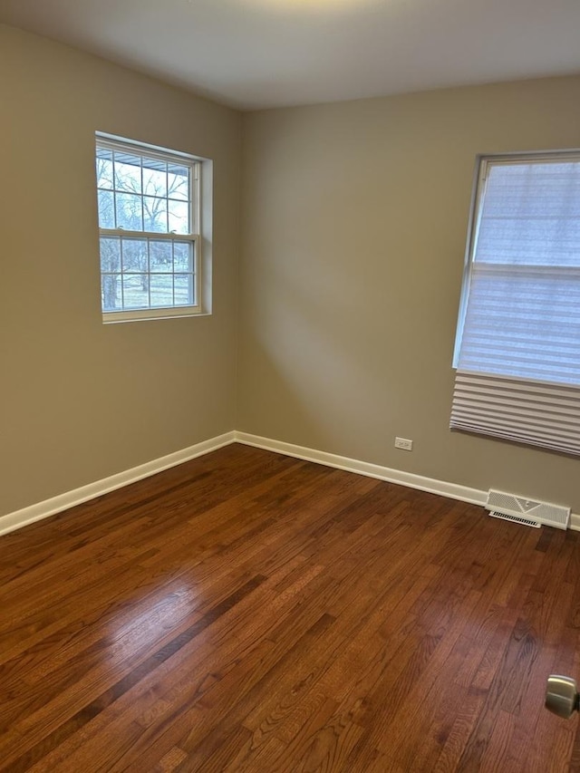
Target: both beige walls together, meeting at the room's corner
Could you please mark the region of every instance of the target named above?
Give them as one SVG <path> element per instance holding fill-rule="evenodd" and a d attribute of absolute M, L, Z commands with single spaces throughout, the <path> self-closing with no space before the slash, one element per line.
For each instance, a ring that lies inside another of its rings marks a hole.
<path fill-rule="evenodd" d="M 2 26 L 0 100 L 0 515 L 235 428 L 580 512 L 448 429 L 475 154 L 580 146 L 580 79 L 248 114 L 239 317 L 237 112 Z M 211 316 L 102 324 L 95 130 L 214 159 Z"/>

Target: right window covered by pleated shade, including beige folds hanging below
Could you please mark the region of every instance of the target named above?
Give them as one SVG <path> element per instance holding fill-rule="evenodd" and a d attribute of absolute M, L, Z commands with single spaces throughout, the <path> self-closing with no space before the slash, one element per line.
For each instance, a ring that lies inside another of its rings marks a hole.
<path fill-rule="evenodd" d="M 580 151 L 478 159 L 451 428 L 580 454 Z"/>

